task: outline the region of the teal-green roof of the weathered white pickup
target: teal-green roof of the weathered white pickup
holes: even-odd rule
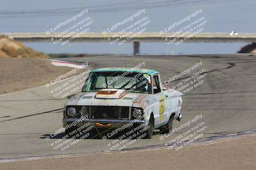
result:
[[[100,69],[93,69],[92,72],[104,72],[104,71],[114,71],[114,72],[118,72],[118,71],[133,71],[135,73],[147,73],[147,74],[156,74],[158,73],[158,71],[154,71],[152,69],[134,69],[134,68],[129,68],[129,67],[107,67],[107,68],[100,68]]]

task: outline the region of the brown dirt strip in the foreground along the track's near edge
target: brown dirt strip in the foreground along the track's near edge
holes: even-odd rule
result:
[[[0,169],[256,169],[256,135],[179,150],[154,149],[0,164]]]

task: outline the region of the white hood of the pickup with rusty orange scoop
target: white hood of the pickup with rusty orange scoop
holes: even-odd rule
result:
[[[116,90],[113,94],[112,89],[100,90],[99,92],[81,92],[72,97],[67,103],[70,106],[134,106],[137,107],[148,94],[127,93],[125,90]]]

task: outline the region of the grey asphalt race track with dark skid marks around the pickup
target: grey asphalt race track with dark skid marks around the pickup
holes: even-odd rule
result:
[[[155,69],[161,77],[177,73],[186,64],[202,60],[211,82],[204,88],[183,97],[182,122],[202,114],[208,129],[204,138],[256,129],[256,56],[253,55],[179,55],[138,57],[88,57],[67,59],[88,61],[92,68],[132,66],[134,60],[145,61],[147,68]],[[64,83],[61,81],[60,83]],[[62,126],[61,108],[67,99],[56,99],[54,87],[35,87],[0,96],[0,159],[19,159],[69,153],[110,152],[113,139],[83,139],[65,151],[53,150],[54,139],[45,136]],[[182,122],[175,121],[174,127]],[[182,132],[182,131],[181,131]],[[174,136],[179,133],[173,134]],[[127,148],[164,145],[161,134],[152,139],[141,139]]]

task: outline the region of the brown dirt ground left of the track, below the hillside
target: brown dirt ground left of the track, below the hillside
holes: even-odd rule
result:
[[[44,85],[71,69],[52,66],[47,59],[0,58],[0,94]]]

